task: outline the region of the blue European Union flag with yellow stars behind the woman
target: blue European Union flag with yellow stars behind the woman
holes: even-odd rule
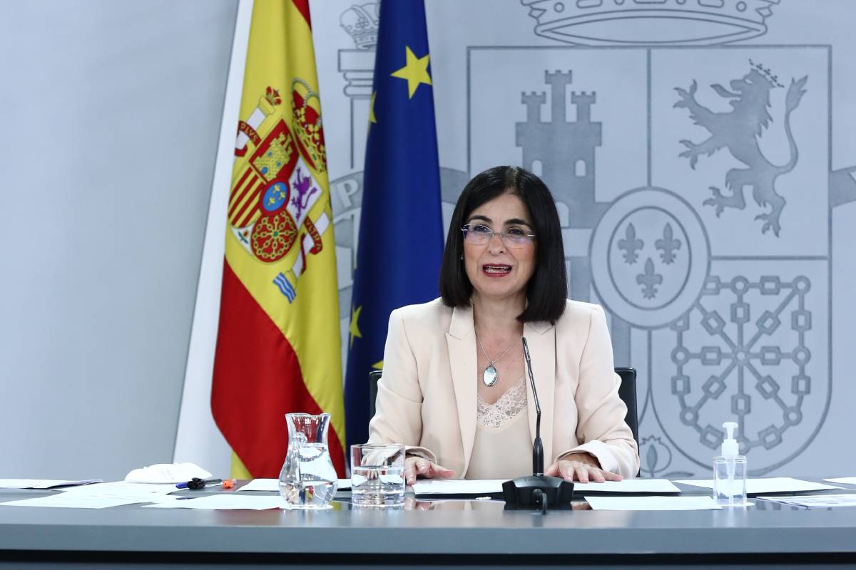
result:
[[[382,2],[379,26],[348,335],[348,444],[368,439],[368,375],[383,367],[389,313],[438,297],[443,254],[425,4]]]

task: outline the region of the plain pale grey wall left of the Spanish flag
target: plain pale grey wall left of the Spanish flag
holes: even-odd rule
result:
[[[172,461],[236,4],[0,6],[0,478]]]

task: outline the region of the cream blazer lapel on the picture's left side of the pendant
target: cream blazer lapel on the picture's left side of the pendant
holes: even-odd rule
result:
[[[473,325],[473,309],[454,309],[446,344],[449,347],[449,365],[452,384],[455,386],[455,401],[458,405],[458,425],[461,426],[461,444],[464,449],[464,471],[458,473],[463,479],[473,455],[476,438],[476,339]]]

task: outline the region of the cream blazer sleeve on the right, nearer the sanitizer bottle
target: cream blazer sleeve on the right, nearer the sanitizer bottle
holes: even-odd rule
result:
[[[618,396],[621,378],[615,373],[612,342],[603,309],[591,311],[588,338],[580,358],[580,379],[574,401],[577,406],[577,441],[582,445],[559,455],[585,451],[600,466],[622,477],[639,473],[639,448],[624,421],[627,406]]]

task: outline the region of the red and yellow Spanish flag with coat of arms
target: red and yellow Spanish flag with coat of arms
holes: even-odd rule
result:
[[[279,475],[283,414],[328,412],[342,476],[336,245],[308,0],[255,0],[240,118],[211,411],[241,478]]]

